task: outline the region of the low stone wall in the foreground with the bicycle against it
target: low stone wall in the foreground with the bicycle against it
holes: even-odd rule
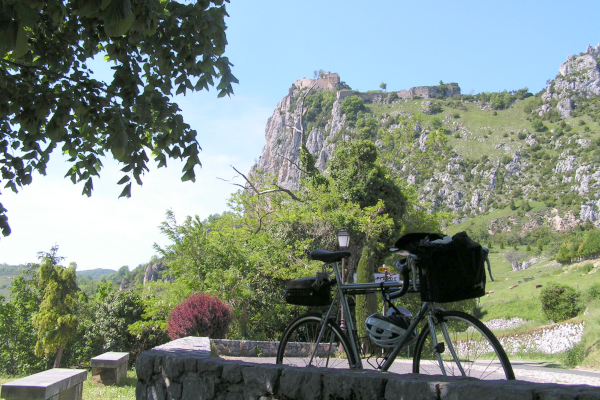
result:
[[[226,361],[211,358],[208,343],[206,338],[184,338],[142,353],[136,362],[136,399],[600,400],[600,390],[587,385],[483,382]]]

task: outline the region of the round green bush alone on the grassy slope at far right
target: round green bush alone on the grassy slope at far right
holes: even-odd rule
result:
[[[579,314],[582,309],[580,295],[571,286],[549,283],[540,294],[542,311],[554,322],[565,321]]]

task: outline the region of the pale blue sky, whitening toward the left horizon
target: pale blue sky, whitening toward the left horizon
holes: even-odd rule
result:
[[[246,172],[260,156],[264,128],[291,84],[314,70],[337,72],[353,89],[388,91],[457,82],[463,93],[529,87],[536,93],[569,54],[600,42],[600,2],[578,1],[244,1],[227,5],[226,55],[240,80],[235,96],[215,90],[178,96],[198,131],[202,169],[182,183],[181,164],[153,168],[132,198],[118,199],[118,165],[104,162],[91,198],[63,178],[54,154],[48,175],[19,194],[4,190],[13,233],[0,239],[0,263],[36,261],[58,244],[79,270],[131,269],[147,262],[166,210],[179,220],[227,210],[230,165]],[[100,68],[100,67],[99,67]],[[240,181],[241,183],[241,181]]]

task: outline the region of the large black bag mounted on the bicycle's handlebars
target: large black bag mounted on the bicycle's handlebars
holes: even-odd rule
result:
[[[408,234],[396,247],[418,257],[422,301],[449,303],[485,294],[485,253],[465,232],[452,241],[440,234]],[[436,243],[436,241],[438,241]]]

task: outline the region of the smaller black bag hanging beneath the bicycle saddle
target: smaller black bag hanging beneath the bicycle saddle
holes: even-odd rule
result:
[[[316,276],[289,281],[285,287],[285,302],[298,306],[328,306],[331,303],[331,283]]]

